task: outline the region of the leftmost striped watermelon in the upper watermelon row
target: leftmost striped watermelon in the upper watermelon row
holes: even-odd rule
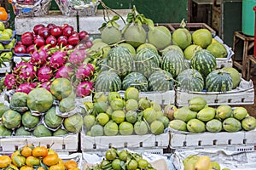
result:
[[[111,48],[107,56],[107,65],[117,71],[119,77],[125,77],[133,69],[132,54],[122,46]]]

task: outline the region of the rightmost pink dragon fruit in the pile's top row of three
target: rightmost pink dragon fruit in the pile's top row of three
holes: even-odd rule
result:
[[[86,57],[86,51],[82,49],[75,49],[68,58],[68,61],[73,65],[82,65]]]

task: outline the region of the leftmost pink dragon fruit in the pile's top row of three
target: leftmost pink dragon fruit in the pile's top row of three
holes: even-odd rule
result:
[[[44,65],[48,57],[46,48],[35,50],[31,55],[31,63],[32,65]]]

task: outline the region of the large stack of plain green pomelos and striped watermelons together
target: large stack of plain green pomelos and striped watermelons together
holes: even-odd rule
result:
[[[122,31],[107,26],[101,33],[90,48],[102,57],[95,82],[98,92],[129,87],[141,92],[166,92],[175,86],[189,91],[226,92],[241,81],[235,68],[217,69],[216,59],[228,53],[207,29],[189,32],[181,25],[171,32],[165,26],[130,23]]]

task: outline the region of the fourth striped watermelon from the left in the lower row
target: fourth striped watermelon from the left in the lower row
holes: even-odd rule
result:
[[[201,92],[204,88],[204,79],[199,71],[186,69],[177,75],[177,85],[183,89]]]

